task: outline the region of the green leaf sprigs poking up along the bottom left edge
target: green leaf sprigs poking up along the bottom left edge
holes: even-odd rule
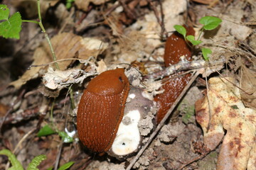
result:
[[[23,167],[21,166],[21,162],[19,162],[18,159],[16,159],[15,155],[13,153],[11,153],[11,151],[9,149],[0,150],[0,154],[6,155],[9,159],[9,161],[11,162],[12,166],[8,170],[23,170]],[[37,168],[37,166],[39,164],[41,164],[41,162],[45,159],[46,159],[46,155],[44,155],[44,154],[41,154],[41,155],[38,155],[38,156],[34,157],[31,161],[31,163],[28,164],[27,170],[39,170]],[[68,169],[74,163],[75,162],[68,162],[66,164],[63,164],[63,166],[60,166],[60,168],[58,170]],[[52,169],[52,168],[50,168],[50,169]]]

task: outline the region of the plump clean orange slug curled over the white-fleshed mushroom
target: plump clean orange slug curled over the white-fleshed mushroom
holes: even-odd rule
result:
[[[92,152],[107,152],[117,135],[129,93],[124,69],[113,69],[92,79],[78,106],[78,136]]]

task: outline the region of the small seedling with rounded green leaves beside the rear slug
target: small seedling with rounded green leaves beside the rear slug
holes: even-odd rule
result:
[[[205,16],[205,17],[201,18],[199,20],[199,23],[203,24],[203,27],[200,30],[197,40],[195,40],[195,37],[193,35],[186,35],[186,28],[184,28],[183,26],[175,25],[174,29],[178,33],[183,35],[183,38],[186,40],[186,42],[187,41],[191,42],[192,45],[199,45],[202,42],[199,39],[201,38],[201,34],[203,33],[203,31],[204,30],[213,30],[213,29],[217,28],[221,22],[222,22],[222,20],[220,18],[217,18],[214,16]],[[210,55],[212,53],[212,51],[209,48],[202,48],[201,50],[203,53],[204,60],[208,60],[209,59],[208,55]]]

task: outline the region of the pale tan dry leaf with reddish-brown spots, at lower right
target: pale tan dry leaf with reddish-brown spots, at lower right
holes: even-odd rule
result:
[[[196,120],[203,128],[204,144],[209,149],[215,149],[224,137],[218,170],[255,170],[256,112],[245,108],[240,90],[230,82],[237,84],[230,77],[209,80],[208,97],[196,102]]]

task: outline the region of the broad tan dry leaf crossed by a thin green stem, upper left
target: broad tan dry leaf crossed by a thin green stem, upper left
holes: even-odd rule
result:
[[[91,56],[97,56],[107,49],[108,44],[95,38],[82,38],[73,33],[60,33],[51,39],[53,49],[57,60],[64,60],[78,57],[81,60],[87,60]],[[50,48],[47,42],[43,43],[43,47],[38,47],[33,55],[32,65],[48,64],[53,61]],[[65,70],[73,62],[73,60],[65,60],[58,62],[60,70]],[[20,79],[11,82],[16,89],[20,88],[26,81],[36,79],[46,72],[47,67],[31,67]],[[43,72],[40,72],[42,71]],[[40,72],[40,73],[39,73]]]

